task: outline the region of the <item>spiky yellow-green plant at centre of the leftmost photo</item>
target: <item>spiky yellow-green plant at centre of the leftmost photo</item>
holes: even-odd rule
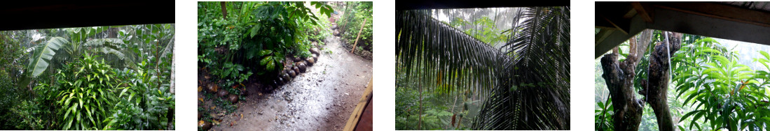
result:
[[[115,100],[112,90],[119,85],[112,68],[97,60],[98,56],[83,55],[72,68],[59,70],[58,82],[62,92],[57,96],[62,129],[99,129]]]

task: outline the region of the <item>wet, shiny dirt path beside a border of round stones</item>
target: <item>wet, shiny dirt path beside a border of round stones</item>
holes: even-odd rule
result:
[[[372,78],[372,61],[350,54],[335,36],[325,43],[316,64],[273,93],[247,85],[235,113],[212,113],[224,116],[211,130],[343,129]]]

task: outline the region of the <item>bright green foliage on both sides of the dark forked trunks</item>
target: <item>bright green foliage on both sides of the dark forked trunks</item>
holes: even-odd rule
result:
[[[654,31],[651,42],[665,41],[661,31]],[[675,128],[680,130],[762,130],[768,117],[768,60],[765,51],[738,54],[735,47],[719,43],[715,38],[685,34],[681,50],[671,57],[671,84],[666,98]],[[628,44],[618,47],[623,57],[628,57]],[[646,77],[649,54],[644,57],[635,72],[634,81]],[[742,55],[760,54],[752,60],[741,60]],[[757,55],[753,55],[757,56]],[[622,61],[623,59],[621,59]],[[764,66],[750,67],[738,61]],[[741,62],[742,63],[742,62]],[[597,67],[601,67],[597,64]],[[601,70],[597,70],[601,75]],[[638,82],[637,82],[638,83]],[[641,84],[634,85],[641,90]],[[597,77],[596,127],[598,130],[614,129],[611,115],[613,98],[608,98],[604,79]],[[641,93],[641,91],[640,91]],[[658,130],[653,111],[644,107],[640,129]]]

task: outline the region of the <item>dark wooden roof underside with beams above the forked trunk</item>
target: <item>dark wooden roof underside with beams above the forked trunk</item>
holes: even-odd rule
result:
[[[644,29],[770,45],[768,2],[596,2],[595,57]]]

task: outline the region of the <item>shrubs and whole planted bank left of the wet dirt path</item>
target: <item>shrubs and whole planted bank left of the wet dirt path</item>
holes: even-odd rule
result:
[[[198,2],[199,103],[218,107],[199,104],[199,129],[221,121],[210,114],[233,113],[246,85],[271,91],[303,73],[296,60],[317,60],[333,13],[326,2]]]

